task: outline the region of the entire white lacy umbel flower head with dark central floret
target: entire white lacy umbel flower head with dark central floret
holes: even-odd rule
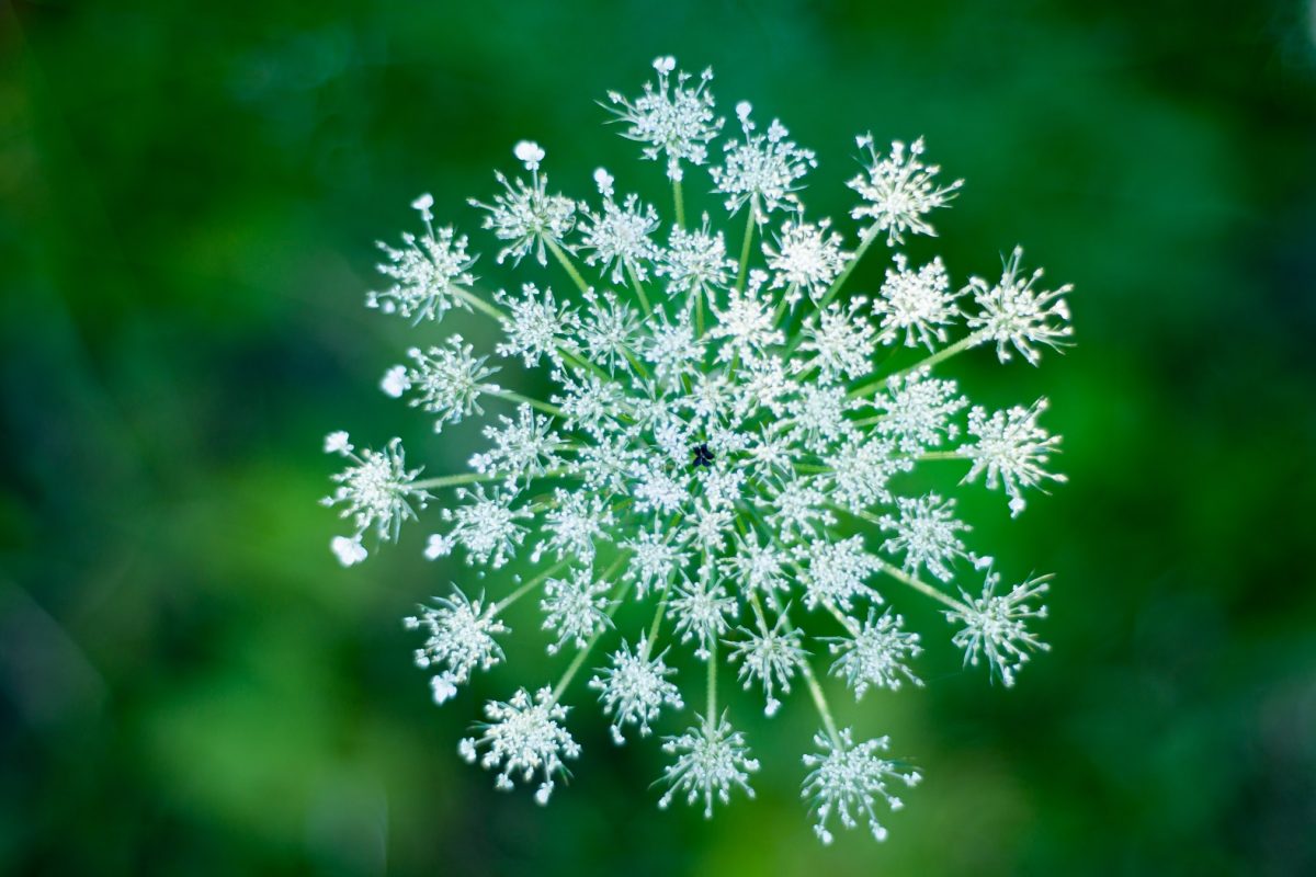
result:
[[[1050,471],[1059,437],[1038,423],[1045,400],[988,412],[944,367],[983,346],[1036,366],[1044,348],[1069,343],[1070,288],[1044,289],[1017,249],[999,281],[959,288],[940,258],[917,264],[892,251],[884,280],[878,272],[875,288],[853,293],[874,245],[934,234],[929,214],[961,188],[938,181],[923,139],[882,153],[858,138],[859,226],[848,241],[830,220],[805,218],[800,192],[816,158],[782,122],[759,129],[741,103],[738,134],[719,145],[712,74],[678,72],[671,58],[654,68],[640,97],[609,93],[605,105],[644,158],[666,163],[674,221],[619,193],[603,168],[592,202],[558,193],[545,150],[522,141],[513,155],[524,174],[496,174],[499,191],[470,204],[495,263],[532,256],[538,277],[478,288],[467,238],[434,227],[429,196],[412,205],[424,235],[382,245],[392,287],[368,306],[430,326],[459,309],[501,334],[488,352],[455,333],[412,348],[382,389],[436,431],[494,410],[468,469],[425,480],[397,439],[358,454],[346,433],[332,434],[325,451],[347,465],[325,502],[351,525],[332,548],[358,563],[365,539],[395,540],[442,496],[425,555],[462,556],[480,577],[505,568],[484,582],[491,600],[454,589],[405,619],[424,635],[415,657],[437,703],[505,660],[509,606],[538,605],[549,655],[569,653],[561,677],[491,701],[461,743],[499,788],[537,778],[536,798],[547,801],[580,753],[563,697],[592,661],[587,688],[619,744],[628,730],[687,728],[663,738],[661,806],[680,797],[711,815],[736,790],[753,795],[759,760],[717,697],[719,676],[734,669],[766,715],[804,699],[800,689],[819,713],[803,777],[817,836],[865,822],[880,840],[875,807],[899,809],[892,789],[919,774],[886,757],[886,738],[855,742],[837,726],[820,671],[857,699],[923,685],[913,665],[926,640],[898,611],[909,598],[938,601],[966,665],[986,661],[1005,685],[1046,648],[1030,627],[1045,617],[1048,577],[998,594],[1000,573],[971,547],[955,498],[919,489],[916,473],[959,465],[962,483],[1001,490],[1015,515],[1026,493],[1063,481]],[[687,224],[683,183],[711,153],[721,155],[708,167],[711,197]],[[720,226],[741,210],[741,230]],[[522,369],[538,369],[547,398],[512,389]],[[979,597],[959,586],[983,575]],[[645,617],[642,628],[621,621],[633,617],[622,606]],[[688,673],[699,663],[704,682]],[[707,701],[692,724],[672,726],[694,699],[683,697],[687,675]]]

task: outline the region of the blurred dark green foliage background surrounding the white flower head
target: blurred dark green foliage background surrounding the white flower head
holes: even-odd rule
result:
[[[0,0],[0,872],[1316,873],[1313,33],[1299,0]],[[326,431],[436,472],[478,440],[376,392],[415,335],[361,308],[371,242],[421,191],[472,227],[522,137],[663,197],[594,100],[667,53],[819,151],[812,212],[854,133],[923,133],[967,185],[912,252],[1076,285],[1067,355],[955,369],[1053,398],[1071,483],[966,504],[1057,573],[1054,648],[1005,690],[908,609],[929,686],[846,711],[926,774],[882,845],[813,840],[804,701],[742,713],[759,794],[708,823],[583,694],[570,788],[494,792],[399,625],[467,573],[421,527],[326,551]],[[537,681],[519,648],[476,696]]]

